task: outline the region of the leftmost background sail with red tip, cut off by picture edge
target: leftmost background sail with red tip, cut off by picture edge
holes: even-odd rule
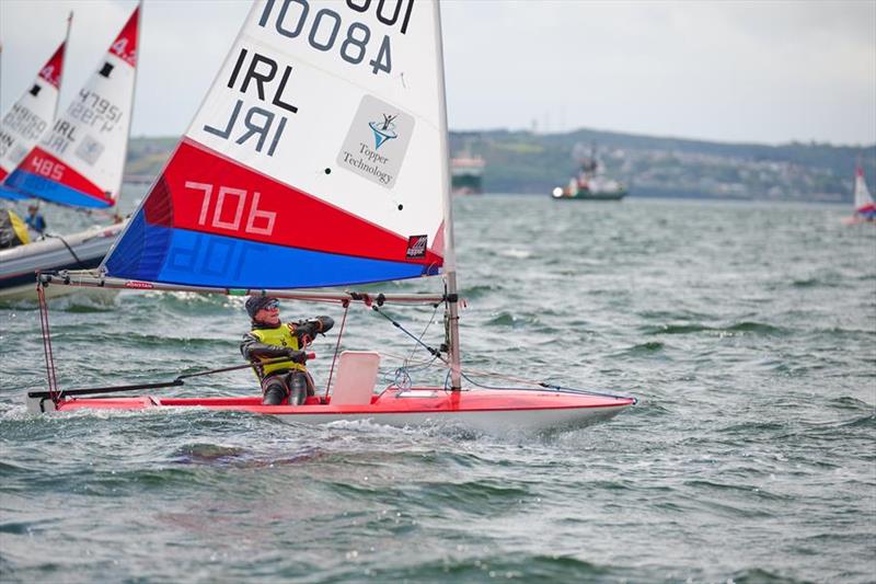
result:
[[[70,21],[67,21],[69,36]],[[51,125],[58,110],[64,72],[65,39],[39,69],[34,82],[0,121],[0,184],[18,167]],[[14,191],[0,188],[0,196],[23,198]]]

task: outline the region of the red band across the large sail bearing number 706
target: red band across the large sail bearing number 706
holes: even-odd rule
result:
[[[171,213],[160,214],[161,219],[148,213],[168,204]],[[355,257],[443,263],[433,250],[410,253],[411,236],[393,233],[188,139],[180,144],[145,208],[152,225]]]

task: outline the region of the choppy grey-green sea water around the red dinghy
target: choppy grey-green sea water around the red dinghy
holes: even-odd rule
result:
[[[45,386],[38,313],[3,306],[0,579],[876,580],[876,229],[841,225],[841,207],[753,203],[483,196],[454,213],[464,363],[637,406],[504,436],[36,416],[23,393]],[[341,317],[284,304],[316,313]],[[433,317],[391,313],[415,334]],[[57,299],[50,319],[65,387],[233,365],[246,329],[240,299],[185,294]],[[315,345],[318,380],[335,341]],[[361,309],[343,346],[414,348]],[[238,371],[175,393],[249,391]]]

